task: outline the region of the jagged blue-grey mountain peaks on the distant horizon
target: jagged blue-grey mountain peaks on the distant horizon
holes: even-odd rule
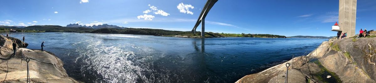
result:
[[[86,25],[79,25],[79,24],[69,24],[67,27],[85,27],[85,28],[93,28],[93,29],[98,29],[98,28],[118,28],[118,29],[124,29],[126,27],[119,27],[116,25],[108,25],[108,24],[103,24],[103,25],[93,25],[93,26],[86,26]]]

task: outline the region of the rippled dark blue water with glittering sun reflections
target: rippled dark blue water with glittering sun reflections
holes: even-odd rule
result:
[[[327,39],[189,39],[126,34],[12,33],[27,48],[53,52],[82,82],[236,82],[292,58]],[[307,53],[306,53],[307,52]],[[306,53],[306,54],[305,54]]]

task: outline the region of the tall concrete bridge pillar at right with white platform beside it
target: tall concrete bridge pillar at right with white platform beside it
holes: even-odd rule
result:
[[[347,37],[355,36],[356,0],[339,0],[339,3],[338,26],[332,26],[332,31],[347,33]]]

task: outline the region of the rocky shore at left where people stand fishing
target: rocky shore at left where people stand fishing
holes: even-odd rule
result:
[[[16,57],[12,43],[16,40]],[[27,43],[13,37],[0,36],[0,81],[10,83],[26,82],[29,66],[30,82],[36,83],[79,83],[69,77],[64,63],[55,55],[40,50],[26,49]],[[27,63],[24,58],[29,58]],[[28,64],[28,65],[27,65]]]

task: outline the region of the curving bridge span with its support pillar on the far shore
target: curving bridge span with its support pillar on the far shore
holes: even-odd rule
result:
[[[201,37],[205,37],[205,17],[208,15],[209,10],[214,6],[215,2],[218,0],[208,0],[206,1],[206,4],[204,8],[201,11],[201,14],[199,16],[199,19],[197,19],[196,25],[194,25],[192,29],[192,33],[196,34],[196,28],[199,27],[200,22],[202,22],[202,27],[201,27]]]

